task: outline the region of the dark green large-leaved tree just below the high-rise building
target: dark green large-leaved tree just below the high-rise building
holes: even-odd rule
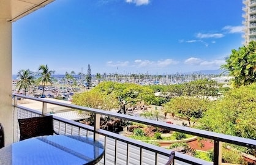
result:
[[[232,50],[232,54],[226,58],[227,64],[220,68],[229,71],[233,76],[235,86],[248,85],[256,81],[256,42]]]

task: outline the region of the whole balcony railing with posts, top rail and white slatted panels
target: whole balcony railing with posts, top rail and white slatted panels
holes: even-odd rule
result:
[[[17,98],[39,101],[42,103],[42,109],[38,111],[38,109],[36,110],[18,105]],[[59,101],[51,101],[16,94],[13,95],[13,111],[15,114],[14,121],[17,121],[17,119],[20,118],[45,115],[47,114],[47,105],[62,106],[74,110],[89,112],[90,114],[94,115],[94,127],[75,122],[73,120],[62,119],[61,117],[53,116],[55,127],[54,129],[59,134],[93,136],[95,139],[102,141],[105,145],[105,156],[99,162],[99,164],[165,164],[168,160],[168,155],[170,154],[170,150],[168,149],[164,149],[156,145],[147,144],[145,142],[127,138],[120,134],[111,133],[110,131],[100,129],[100,116],[115,117],[118,119],[142,123],[145,125],[152,125],[154,127],[192,134],[194,136],[211,139],[214,141],[214,162],[200,160],[198,158],[184,155],[182,153],[175,153],[175,164],[221,164],[220,150],[222,142],[256,149],[256,141],[252,139],[239,138],[236,136],[229,136],[205,130],[198,130],[195,128],[172,125],[155,120],[143,119],[135,116],[118,114],[116,112],[104,111],[101,109],[86,108],[83,106],[60,103]],[[13,128],[15,128],[13,130],[13,134],[15,134],[13,139],[14,141],[17,141],[19,136],[18,124],[17,122],[14,122],[13,125]]]

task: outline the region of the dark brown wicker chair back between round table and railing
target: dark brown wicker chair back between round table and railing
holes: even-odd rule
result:
[[[36,136],[53,135],[53,116],[18,119],[20,141]]]

